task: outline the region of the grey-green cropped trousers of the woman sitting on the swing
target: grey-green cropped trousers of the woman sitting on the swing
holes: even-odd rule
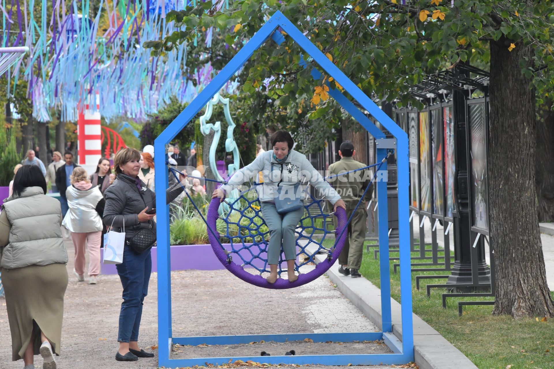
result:
[[[278,264],[281,254],[281,241],[286,260],[296,259],[296,235],[294,230],[304,214],[304,206],[300,209],[279,214],[275,204],[261,203],[261,215],[269,228],[268,264]]]

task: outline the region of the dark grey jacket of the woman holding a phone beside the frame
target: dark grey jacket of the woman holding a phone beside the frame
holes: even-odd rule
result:
[[[137,187],[137,181],[140,185],[140,191]],[[166,202],[169,204],[183,192],[181,184],[176,184],[171,189],[166,190]],[[106,205],[104,207],[104,216],[102,220],[106,227],[119,227],[121,232],[125,221],[125,237],[131,238],[142,228],[152,228],[156,231],[156,222],[139,222],[139,213],[146,206],[148,209],[156,208],[156,194],[150,190],[146,184],[138,177],[132,178],[126,174],[118,174],[111,186],[104,194]],[[165,206],[163,207],[165,209]]]

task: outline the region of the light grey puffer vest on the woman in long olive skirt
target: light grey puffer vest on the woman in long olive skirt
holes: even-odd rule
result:
[[[68,262],[61,237],[61,206],[40,187],[28,187],[2,205],[12,225],[9,243],[2,247],[2,267],[23,268]]]

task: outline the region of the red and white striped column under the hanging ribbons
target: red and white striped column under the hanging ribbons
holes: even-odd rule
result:
[[[102,129],[100,127],[100,96],[96,96],[96,110],[86,103],[78,108],[77,121],[79,164],[89,173],[96,170],[98,160],[102,157]],[[87,99],[90,102],[90,97]]]

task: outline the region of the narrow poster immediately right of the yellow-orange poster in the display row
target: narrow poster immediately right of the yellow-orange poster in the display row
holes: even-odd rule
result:
[[[431,151],[433,153],[433,214],[444,216],[443,121],[440,109],[431,111]]]

